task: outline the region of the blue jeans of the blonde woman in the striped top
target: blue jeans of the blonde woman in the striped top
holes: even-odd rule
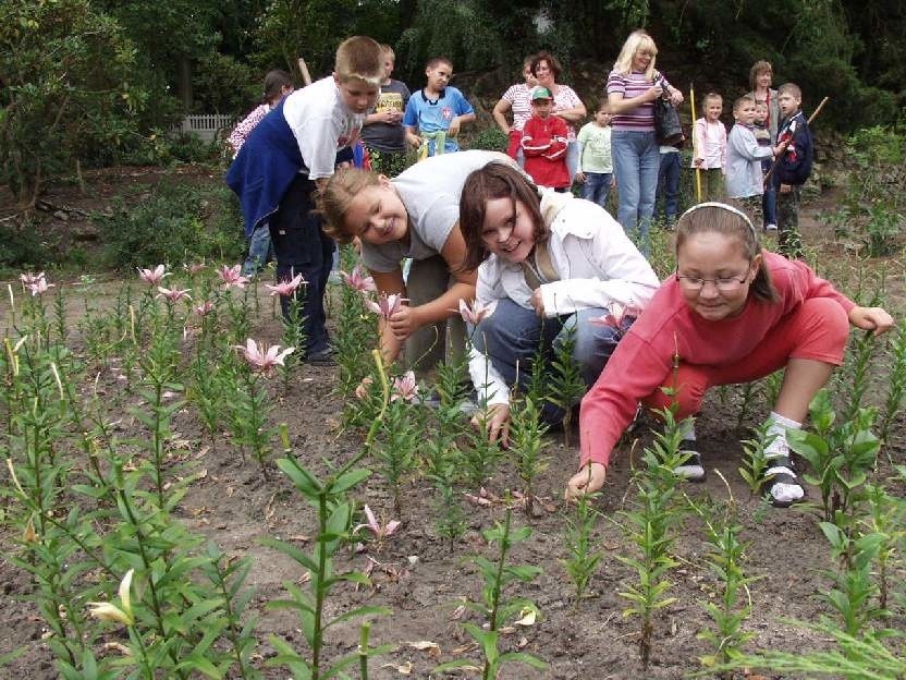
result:
[[[620,207],[616,219],[623,230],[635,235],[638,230],[639,250],[647,257],[651,250],[648,231],[654,214],[658,171],[661,154],[653,132],[614,130],[611,133],[611,154]]]

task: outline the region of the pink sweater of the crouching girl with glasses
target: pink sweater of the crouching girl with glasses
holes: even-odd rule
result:
[[[847,314],[855,306],[805,263],[763,254],[781,301],[768,304],[749,298],[743,313],[733,318],[708,321],[683,300],[676,277],[661,284],[581,401],[580,465],[608,464],[636,405],[668,380],[674,352],[683,363],[726,366],[748,356],[805,300],[830,298]]]

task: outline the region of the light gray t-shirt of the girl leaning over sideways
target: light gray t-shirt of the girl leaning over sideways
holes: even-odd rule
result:
[[[362,262],[372,271],[394,271],[404,257],[428,259],[440,254],[460,219],[460,195],[466,178],[492,160],[512,160],[497,151],[457,151],[415,163],[391,183],[409,216],[408,247],[401,241],[362,243]]]

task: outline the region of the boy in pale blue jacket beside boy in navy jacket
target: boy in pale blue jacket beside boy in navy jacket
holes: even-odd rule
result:
[[[733,102],[733,119],[736,123],[726,138],[726,195],[751,219],[761,207],[764,191],[761,160],[771,158],[773,151],[770,146],[759,146],[755,138],[752,97],[746,95]]]

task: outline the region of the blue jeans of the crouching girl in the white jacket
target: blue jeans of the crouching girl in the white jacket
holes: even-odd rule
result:
[[[541,319],[534,309],[526,309],[512,300],[499,300],[493,314],[486,316],[475,328],[472,340],[482,354],[487,354],[494,369],[509,386],[518,385],[522,391],[528,388],[531,362],[539,344],[544,365],[550,367],[554,347],[564,329],[574,327],[575,347],[573,359],[579,365],[583,380],[591,387],[601,375],[610,355],[616,349],[620,333],[610,326],[591,324],[589,319],[607,314],[607,309],[579,309],[575,314]],[[628,325],[626,325],[628,328]],[[553,404],[542,406],[542,416],[555,423],[563,411]]]

